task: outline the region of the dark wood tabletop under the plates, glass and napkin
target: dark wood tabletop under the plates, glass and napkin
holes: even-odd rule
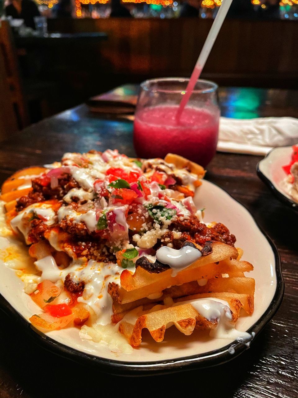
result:
[[[118,94],[135,94],[125,86]],[[298,92],[222,88],[229,117],[298,117]],[[118,148],[134,156],[132,122],[91,113],[79,105],[0,143],[0,182],[15,170],[59,160],[64,152]],[[256,175],[261,156],[217,153],[206,178],[248,208],[281,255],[285,293],[273,319],[250,349],[229,363],[199,371],[151,377],[117,377],[58,357],[17,330],[0,312],[0,398],[81,396],[283,397],[298,396],[298,213],[284,206]],[[264,291],[264,295],[266,292]],[[154,395],[153,395],[154,394]]]

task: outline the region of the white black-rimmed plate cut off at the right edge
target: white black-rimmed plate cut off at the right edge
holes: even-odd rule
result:
[[[273,191],[275,196],[292,207],[293,210],[298,211],[298,203],[294,201],[284,189],[284,178],[286,177],[283,171],[283,166],[289,164],[292,155],[292,146],[281,146],[273,148],[264,159],[257,164],[257,175],[265,182]]]

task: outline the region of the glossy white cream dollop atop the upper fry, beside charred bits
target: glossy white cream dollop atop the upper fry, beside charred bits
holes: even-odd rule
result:
[[[179,250],[162,246],[156,252],[157,260],[163,264],[170,265],[172,268],[172,277],[175,277],[179,271],[187,268],[201,256],[201,252],[192,246],[183,246]]]

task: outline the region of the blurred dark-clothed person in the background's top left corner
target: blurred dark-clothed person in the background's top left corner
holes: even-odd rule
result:
[[[13,19],[24,20],[25,25],[32,29],[35,29],[34,17],[41,15],[33,0],[10,0],[5,13]]]

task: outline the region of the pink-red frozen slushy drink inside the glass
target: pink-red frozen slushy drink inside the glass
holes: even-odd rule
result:
[[[216,152],[219,109],[187,107],[177,120],[178,105],[145,107],[135,114],[134,147],[140,158],[176,153],[206,166]]]

